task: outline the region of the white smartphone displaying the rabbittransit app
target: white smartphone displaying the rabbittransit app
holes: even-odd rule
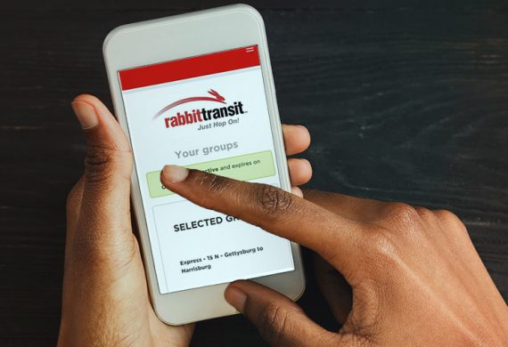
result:
[[[299,246],[196,206],[160,182],[166,164],[290,190],[260,14],[236,4],[115,28],[104,60],[135,159],[132,201],[152,304],[180,325],[237,313],[224,291],[250,278],[296,300]]]

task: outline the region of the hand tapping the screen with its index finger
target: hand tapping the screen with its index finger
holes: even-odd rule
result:
[[[320,254],[339,271],[324,295],[337,333],[251,281],[225,299],[282,346],[506,346],[508,310],[460,220],[447,211],[310,192],[165,166],[162,182],[194,203],[230,214]]]

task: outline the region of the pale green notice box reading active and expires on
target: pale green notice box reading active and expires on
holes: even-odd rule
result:
[[[190,169],[214,173],[239,181],[250,181],[274,176],[274,157],[272,151],[257,152],[237,157],[211,160],[204,163],[186,165]],[[146,173],[151,198],[160,198],[173,194],[160,182],[160,171]]]

